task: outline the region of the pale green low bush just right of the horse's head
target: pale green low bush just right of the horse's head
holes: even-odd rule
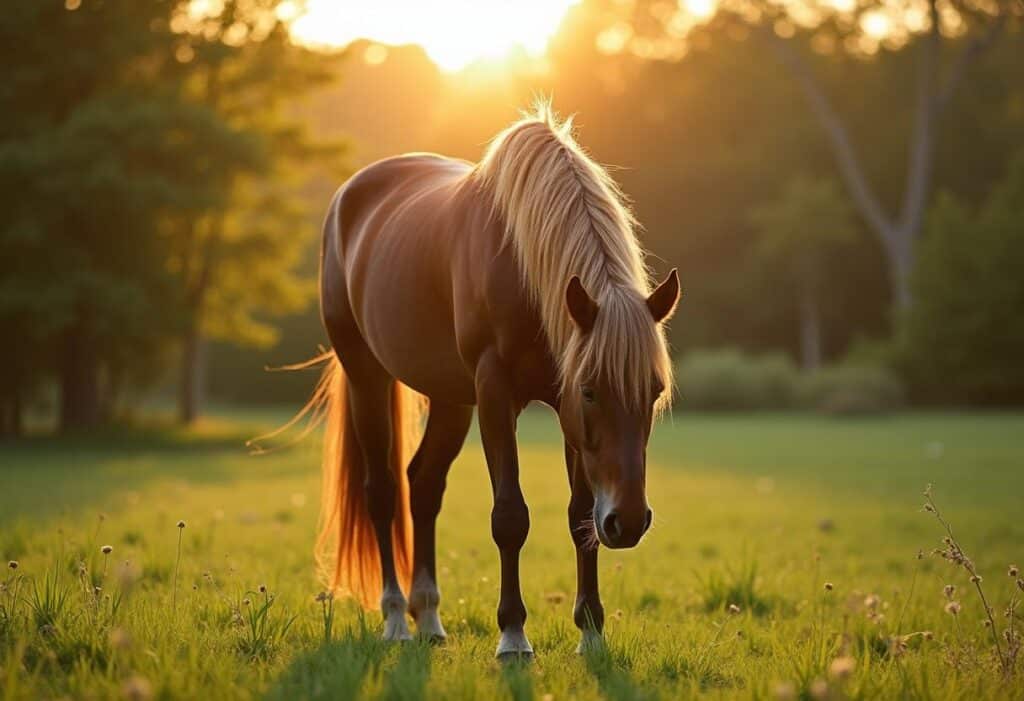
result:
[[[794,404],[798,374],[781,353],[754,356],[735,349],[693,351],[677,366],[688,409],[778,409]]]

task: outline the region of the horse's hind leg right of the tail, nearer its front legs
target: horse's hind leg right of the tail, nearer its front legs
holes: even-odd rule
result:
[[[413,510],[413,590],[409,610],[421,636],[443,641],[437,615],[440,592],[435,568],[435,530],[445,479],[473,421],[473,408],[431,400],[423,441],[409,466]]]

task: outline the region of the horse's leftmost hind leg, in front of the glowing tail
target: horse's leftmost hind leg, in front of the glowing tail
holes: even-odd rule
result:
[[[348,406],[352,412],[355,435],[367,466],[367,507],[377,533],[380,552],[384,615],[384,640],[410,640],[406,622],[406,596],[401,593],[394,569],[391,525],[394,520],[398,485],[390,468],[391,400],[394,380],[383,374],[361,376],[358,382],[349,376]]]

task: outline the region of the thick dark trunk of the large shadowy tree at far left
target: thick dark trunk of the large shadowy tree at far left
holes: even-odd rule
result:
[[[60,362],[60,431],[99,425],[99,356],[92,334],[83,323],[63,337]]]

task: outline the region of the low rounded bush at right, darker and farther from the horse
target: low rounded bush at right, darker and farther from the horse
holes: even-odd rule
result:
[[[903,385],[882,366],[841,364],[800,381],[800,405],[834,414],[880,413],[903,403]]]

